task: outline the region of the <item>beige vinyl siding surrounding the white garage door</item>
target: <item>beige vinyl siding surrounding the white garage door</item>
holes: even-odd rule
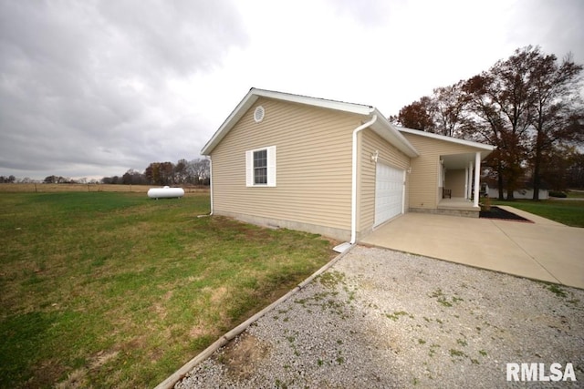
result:
[[[378,160],[394,168],[407,170],[410,167],[410,158],[386,140],[373,132],[370,128],[364,129],[359,136],[360,149],[360,186],[357,203],[359,204],[357,225],[360,235],[367,234],[375,221],[375,167],[371,161],[371,154],[379,151]],[[409,177],[406,174],[405,210],[408,210]]]

